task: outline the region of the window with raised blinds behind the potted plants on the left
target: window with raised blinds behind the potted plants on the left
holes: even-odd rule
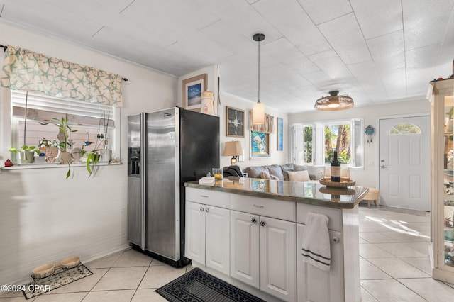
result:
[[[27,104],[27,120],[24,116]],[[50,97],[35,91],[11,91],[11,146],[38,146],[42,138],[57,140],[58,128],[55,118],[60,120],[68,114],[72,147],[82,147],[87,152],[102,149],[101,136],[106,135],[108,147],[113,148],[115,118],[114,107],[103,104],[92,104],[74,99]],[[106,125],[104,125],[106,123]],[[26,138],[24,141],[24,128]]]

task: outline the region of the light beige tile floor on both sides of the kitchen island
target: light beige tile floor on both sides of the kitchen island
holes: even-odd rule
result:
[[[454,285],[431,278],[430,218],[360,206],[362,301],[451,301]],[[155,289],[192,267],[175,269],[134,250],[87,263],[92,276],[28,301],[165,301]],[[22,293],[0,302],[26,301]],[[216,302],[216,301],[214,301]]]

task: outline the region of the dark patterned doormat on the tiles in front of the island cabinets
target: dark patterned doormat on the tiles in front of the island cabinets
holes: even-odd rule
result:
[[[171,302],[265,302],[225,281],[206,274],[199,268],[192,269],[183,276],[160,287],[156,292]]]

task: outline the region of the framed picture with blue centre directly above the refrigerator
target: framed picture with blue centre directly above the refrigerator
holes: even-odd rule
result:
[[[208,74],[200,74],[196,77],[184,79],[182,82],[183,108],[192,111],[200,111],[201,93],[206,90]]]

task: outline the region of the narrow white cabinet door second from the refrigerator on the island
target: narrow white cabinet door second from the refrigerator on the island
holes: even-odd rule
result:
[[[230,271],[230,210],[206,206],[206,266]]]

